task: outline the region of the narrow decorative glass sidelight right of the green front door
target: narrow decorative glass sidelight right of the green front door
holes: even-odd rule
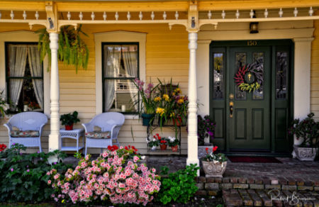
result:
[[[288,52],[276,52],[276,99],[286,99]]]

